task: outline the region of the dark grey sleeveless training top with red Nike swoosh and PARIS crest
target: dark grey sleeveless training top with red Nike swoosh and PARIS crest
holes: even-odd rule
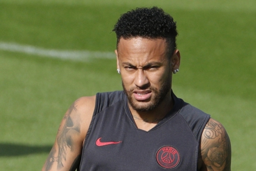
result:
[[[210,115],[172,96],[172,111],[147,132],[136,127],[123,91],[97,93],[80,171],[196,171]]]

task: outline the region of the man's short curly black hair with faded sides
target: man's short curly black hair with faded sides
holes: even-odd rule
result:
[[[121,38],[142,37],[148,39],[166,39],[169,52],[176,48],[176,22],[172,16],[158,7],[136,8],[121,15],[113,29],[117,36],[117,45]]]

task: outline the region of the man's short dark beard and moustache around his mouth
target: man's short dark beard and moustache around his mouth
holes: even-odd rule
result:
[[[136,104],[136,100],[134,100],[132,96],[133,96],[133,90],[136,90],[136,89],[141,90],[141,89],[134,87],[127,90],[122,80],[122,86],[128,98],[128,102],[132,106],[132,108],[137,112],[149,112],[154,110],[169,93],[170,85],[171,85],[171,77],[169,75],[168,78],[162,83],[159,89],[153,86],[150,86],[149,88],[147,88],[148,90],[151,90],[153,96],[151,96],[149,102],[140,102],[142,104],[139,105],[139,104]]]

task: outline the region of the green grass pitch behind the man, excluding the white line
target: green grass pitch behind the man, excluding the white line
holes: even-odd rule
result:
[[[255,171],[255,0],[0,0],[0,44],[113,52],[121,13],[155,5],[177,21],[174,92],[225,126],[232,171]],[[69,105],[121,89],[114,55],[62,60],[0,46],[0,170],[41,170]]]

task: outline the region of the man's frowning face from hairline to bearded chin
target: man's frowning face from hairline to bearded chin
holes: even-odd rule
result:
[[[172,84],[172,59],[167,57],[164,39],[141,37],[120,39],[117,68],[129,105],[138,112],[155,109],[168,94]]]

